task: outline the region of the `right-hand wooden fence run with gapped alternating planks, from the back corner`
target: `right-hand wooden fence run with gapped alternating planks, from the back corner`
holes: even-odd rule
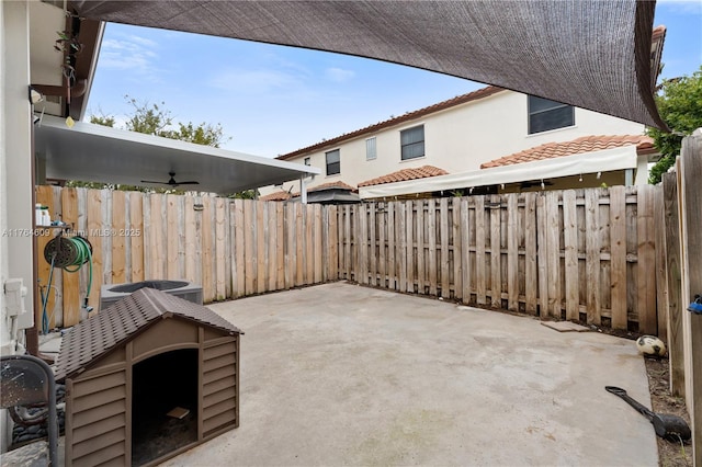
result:
[[[339,207],[340,278],[665,335],[654,186]]]

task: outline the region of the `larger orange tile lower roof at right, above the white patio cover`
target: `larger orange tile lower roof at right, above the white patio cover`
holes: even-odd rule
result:
[[[632,145],[636,145],[636,149],[638,151],[648,151],[654,149],[654,140],[644,135],[582,136],[571,141],[546,143],[545,145],[514,152],[513,155],[485,162],[480,164],[480,169],[553,159],[563,156],[573,156]]]

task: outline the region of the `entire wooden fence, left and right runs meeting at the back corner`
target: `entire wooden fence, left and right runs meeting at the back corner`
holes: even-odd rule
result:
[[[639,186],[344,206],[38,186],[93,247],[100,286],[184,278],[206,303],[326,281],[665,335],[654,196]],[[50,237],[38,236],[39,257]],[[49,264],[39,259],[39,282]],[[80,318],[87,267],[56,271],[50,326]],[[56,299],[58,298],[58,299]]]

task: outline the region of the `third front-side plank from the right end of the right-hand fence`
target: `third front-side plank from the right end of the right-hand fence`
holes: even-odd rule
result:
[[[600,195],[585,191],[585,282],[587,287],[587,322],[600,326]]]

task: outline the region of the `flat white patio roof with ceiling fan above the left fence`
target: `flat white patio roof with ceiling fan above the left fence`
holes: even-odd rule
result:
[[[196,180],[180,190],[236,193],[320,173],[319,169],[210,146],[45,115],[35,151],[47,179],[168,187],[141,180]],[[97,176],[95,174],[100,174]],[[100,179],[100,180],[97,180]]]

